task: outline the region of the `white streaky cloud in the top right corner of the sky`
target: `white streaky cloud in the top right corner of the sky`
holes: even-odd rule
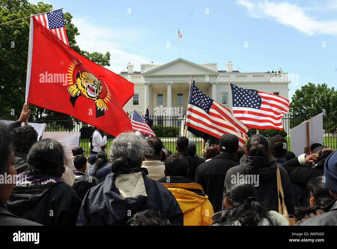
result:
[[[337,20],[319,21],[314,17],[306,15],[304,7],[287,2],[274,3],[269,1],[251,3],[237,1],[238,4],[247,7],[251,17],[272,18],[273,20],[289,25],[307,35],[337,34]]]

